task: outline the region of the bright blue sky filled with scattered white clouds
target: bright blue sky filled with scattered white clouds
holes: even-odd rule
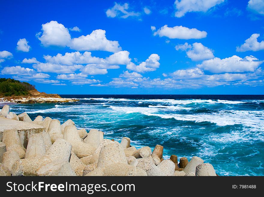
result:
[[[264,1],[2,1],[0,74],[58,94],[263,94]]]

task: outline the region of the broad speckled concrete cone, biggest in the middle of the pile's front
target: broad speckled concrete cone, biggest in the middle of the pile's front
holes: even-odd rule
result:
[[[123,148],[118,142],[102,147],[98,159],[98,167],[108,166],[112,163],[128,164]]]

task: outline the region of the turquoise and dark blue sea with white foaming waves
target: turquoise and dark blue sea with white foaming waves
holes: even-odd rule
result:
[[[61,95],[72,103],[11,105],[27,112],[68,119],[77,128],[98,129],[104,138],[131,139],[136,148],[164,146],[170,155],[201,157],[220,176],[264,175],[264,95]]]

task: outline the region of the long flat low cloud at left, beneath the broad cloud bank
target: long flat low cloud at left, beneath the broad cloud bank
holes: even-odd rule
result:
[[[82,65],[60,65],[60,64],[52,64],[52,63],[40,63],[33,64],[32,66],[38,72],[46,72],[46,73],[73,73],[75,70],[82,68]]]

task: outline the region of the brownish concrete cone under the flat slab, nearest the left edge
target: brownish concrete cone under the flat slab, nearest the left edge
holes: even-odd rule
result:
[[[26,149],[21,146],[19,135],[16,130],[5,130],[2,140],[7,151],[16,151],[20,159],[25,157]]]

